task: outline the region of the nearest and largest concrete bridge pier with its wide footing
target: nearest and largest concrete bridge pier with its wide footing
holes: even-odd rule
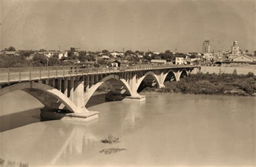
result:
[[[50,81],[50,83],[53,83]],[[61,84],[62,79],[58,79],[57,89],[61,88],[60,91],[64,91],[66,97],[77,107],[76,111],[70,113],[70,111],[65,108],[65,105],[59,103],[59,101],[54,98],[46,98],[50,105],[47,105],[41,110],[41,117],[43,119],[61,119],[61,120],[73,120],[73,121],[90,121],[98,118],[97,111],[89,111],[85,108],[84,104],[84,78],[71,77],[69,80],[65,78],[63,84]],[[63,85],[63,86],[62,86]]]

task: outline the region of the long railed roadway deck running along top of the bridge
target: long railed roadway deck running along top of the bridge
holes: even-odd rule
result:
[[[65,78],[72,76],[99,75],[99,74],[117,74],[120,72],[143,71],[155,69],[180,69],[180,68],[197,68],[199,66],[189,65],[142,65],[129,66],[125,68],[109,67],[109,68],[91,68],[91,69],[61,69],[61,70],[38,70],[31,68],[29,71],[13,71],[0,72],[0,84],[15,83],[23,81],[36,81],[50,78]]]

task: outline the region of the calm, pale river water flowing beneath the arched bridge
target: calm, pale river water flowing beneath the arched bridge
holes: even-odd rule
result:
[[[87,106],[90,122],[39,121],[39,101],[0,97],[0,158],[29,165],[254,166],[255,97],[146,93],[146,101]],[[12,114],[8,114],[12,113]],[[112,134],[119,143],[100,140]],[[125,148],[118,153],[99,153]]]

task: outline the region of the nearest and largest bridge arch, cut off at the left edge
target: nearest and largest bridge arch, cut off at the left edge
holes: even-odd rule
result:
[[[24,82],[24,83],[17,83],[17,84],[14,84],[14,85],[6,86],[5,88],[0,90],[0,96],[5,95],[6,93],[9,93],[9,92],[16,91],[16,90],[23,90],[23,91],[26,92],[26,90],[28,90],[28,89],[35,89],[35,90],[40,90],[40,91],[43,91],[45,93],[48,93],[49,95],[57,98],[60,102],[62,102],[65,105],[65,107],[68,108],[68,110],[70,112],[75,112],[75,113],[82,112],[82,110],[79,107],[77,107],[62,92],[53,88],[52,86],[42,84],[42,83]],[[35,98],[38,99],[37,97],[35,97]]]

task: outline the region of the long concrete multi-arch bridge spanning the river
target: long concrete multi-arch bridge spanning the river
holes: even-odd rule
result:
[[[165,81],[179,81],[191,72],[198,72],[198,66],[133,66],[126,69],[56,69],[26,70],[0,73],[0,96],[22,90],[29,93],[47,110],[68,111],[58,113],[63,119],[91,120],[98,112],[88,111],[85,105],[100,85],[105,83],[114,94],[126,94],[125,100],[145,100],[138,93],[140,86],[156,85],[164,88]],[[46,111],[46,110],[45,110]],[[53,112],[44,117],[53,117]],[[58,117],[59,118],[59,117]]]

